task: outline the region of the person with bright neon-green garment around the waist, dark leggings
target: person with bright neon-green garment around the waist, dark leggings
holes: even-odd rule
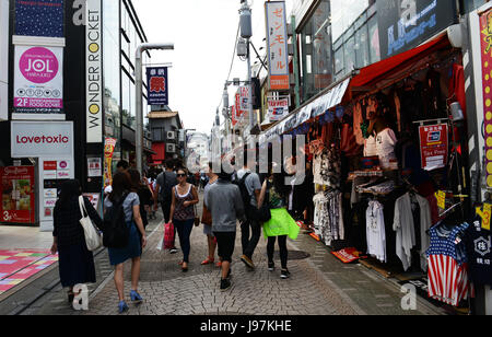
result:
[[[286,197],[290,186],[286,185],[285,177],[285,174],[273,174],[272,168],[270,168],[269,177],[263,182],[258,202],[258,209],[268,204],[271,213],[271,219],[263,222],[263,234],[268,240],[268,270],[273,271],[276,269],[273,252],[276,241],[278,241],[282,267],[280,277],[282,279],[288,279],[291,276],[288,268],[289,251],[286,240],[288,237],[292,240],[297,239],[300,232],[300,228],[286,210]]]

